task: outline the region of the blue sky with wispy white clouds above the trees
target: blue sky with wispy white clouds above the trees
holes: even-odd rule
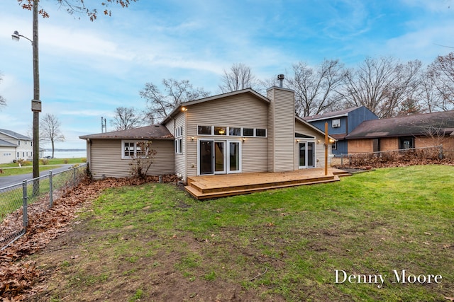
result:
[[[87,1],[87,3],[100,3]],[[454,0],[139,0],[112,7],[112,16],[74,18],[55,0],[41,0],[40,98],[57,115],[67,141],[101,132],[119,106],[145,108],[146,82],[188,79],[218,93],[224,69],[243,63],[259,79],[299,61],[339,59],[354,67],[365,57],[392,56],[430,64],[453,51]],[[16,0],[0,1],[0,128],[27,134],[32,123],[32,16]],[[49,147],[49,145],[41,145]]]

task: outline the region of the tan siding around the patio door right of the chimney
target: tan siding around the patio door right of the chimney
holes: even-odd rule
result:
[[[304,134],[310,137],[315,137],[315,139],[299,139],[300,141],[315,141],[315,168],[324,168],[325,167],[325,136],[320,132],[317,132],[314,129],[311,129],[307,125],[299,122],[299,120],[295,120],[295,132],[299,134]],[[320,141],[319,143],[317,141]],[[299,144],[295,141],[295,161],[294,161],[294,168],[299,168]],[[330,146],[331,148],[331,146]],[[331,149],[328,150],[328,153],[331,153]],[[328,164],[330,158],[328,157]]]

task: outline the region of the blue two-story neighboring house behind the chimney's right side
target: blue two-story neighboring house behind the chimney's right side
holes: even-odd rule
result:
[[[325,123],[328,122],[328,134],[337,139],[333,143],[332,150],[335,156],[348,154],[348,143],[345,137],[350,134],[359,124],[367,120],[377,120],[374,112],[364,106],[323,113],[323,115],[312,115],[303,117],[306,122],[325,131]]]

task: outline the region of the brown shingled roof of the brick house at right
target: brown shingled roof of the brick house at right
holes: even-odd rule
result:
[[[446,135],[452,134],[454,131],[454,110],[367,120],[350,132],[345,139],[426,135],[429,129],[440,129]]]

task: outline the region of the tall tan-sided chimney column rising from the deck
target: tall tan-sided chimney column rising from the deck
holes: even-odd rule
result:
[[[267,93],[271,100],[268,112],[270,171],[294,170],[294,91],[273,87]]]

